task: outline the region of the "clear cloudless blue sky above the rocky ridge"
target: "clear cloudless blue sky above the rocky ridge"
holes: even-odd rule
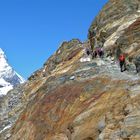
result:
[[[65,40],[87,39],[107,0],[0,0],[0,48],[24,78]]]

